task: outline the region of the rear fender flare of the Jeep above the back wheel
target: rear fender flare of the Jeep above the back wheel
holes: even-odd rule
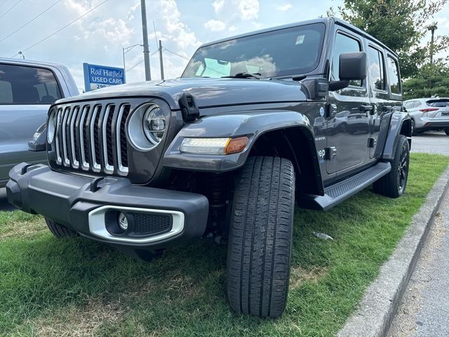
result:
[[[396,144],[398,143],[398,138],[399,135],[401,135],[401,132],[408,137],[408,142],[411,146],[411,121],[412,119],[408,112],[394,112],[391,114],[389,131],[387,134],[387,139],[385,140],[382,159],[387,161],[394,159],[394,150],[396,149]]]

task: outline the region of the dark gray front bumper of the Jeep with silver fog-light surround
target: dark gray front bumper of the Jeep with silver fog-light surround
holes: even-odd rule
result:
[[[8,201],[18,209],[114,246],[155,251],[201,237],[206,230],[208,199],[201,194],[135,186],[126,178],[73,176],[42,164],[19,164],[9,176]],[[123,231],[119,212],[140,219],[139,228],[153,220],[156,227],[162,228],[161,222],[166,227],[142,233],[131,224]]]

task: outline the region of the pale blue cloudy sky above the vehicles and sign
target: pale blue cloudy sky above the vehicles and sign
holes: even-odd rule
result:
[[[156,39],[166,48],[168,79],[180,77],[203,43],[318,18],[342,0],[147,0],[146,4],[152,79],[161,78]],[[449,6],[434,20],[438,34],[449,34]],[[0,0],[0,57],[18,58],[22,51],[29,60],[65,65],[81,90],[83,62],[123,67],[122,48],[134,44],[142,44],[140,0]],[[142,47],[131,49],[125,60],[127,81],[145,80]]]

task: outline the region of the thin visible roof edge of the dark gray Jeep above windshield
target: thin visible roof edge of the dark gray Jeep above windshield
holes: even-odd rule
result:
[[[212,44],[218,44],[220,42],[225,42],[225,41],[230,41],[230,40],[234,40],[234,39],[239,39],[241,37],[250,37],[253,35],[257,35],[257,34],[262,34],[262,33],[266,33],[266,32],[273,32],[275,30],[279,30],[279,29],[286,29],[286,28],[291,28],[291,27],[297,27],[297,26],[302,26],[302,25],[310,25],[312,23],[324,23],[326,26],[328,25],[340,25],[342,27],[345,27],[353,32],[355,32],[356,34],[359,34],[363,37],[366,37],[367,39],[370,39],[371,41],[375,42],[376,44],[382,46],[383,48],[387,49],[387,51],[389,51],[389,53],[393,54],[394,57],[397,58],[397,54],[391,50],[391,48],[387,47],[385,44],[382,44],[381,41],[377,40],[375,37],[372,37],[370,34],[363,32],[363,30],[361,30],[360,28],[357,28],[354,25],[351,25],[349,22],[346,22],[344,20],[340,20],[338,18],[318,18],[318,19],[314,19],[314,20],[306,20],[306,21],[300,21],[300,22],[293,22],[293,23],[289,23],[287,25],[281,25],[281,26],[276,26],[276,27],[269,27],[269,28],[265,28],[265,29],[260,29],[260,30],[256,30],[254,32],[248,32],[248,33],[244,33],[244,34],[239,34],[239,35],[235,35],[233,37],[226,37],[225,39],[220,39],[220,40],[216,40],[216,41],[210,41],[207,42],[206,44],[202,44],[199,48],[203,47],[203,46],[210,46]]]

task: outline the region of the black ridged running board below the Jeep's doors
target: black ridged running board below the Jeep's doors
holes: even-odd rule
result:
[[[326,187],[323,196],[304,195],[300,197],[298,204],[305,209],[320,209],[327,211],[357,192],[360,192],[368,185],[371,185],[377,179],[385,176],[389,171],[391,171],[391,164],[389,162],[380,162],[366,171],[347,178],[347,180]]]

